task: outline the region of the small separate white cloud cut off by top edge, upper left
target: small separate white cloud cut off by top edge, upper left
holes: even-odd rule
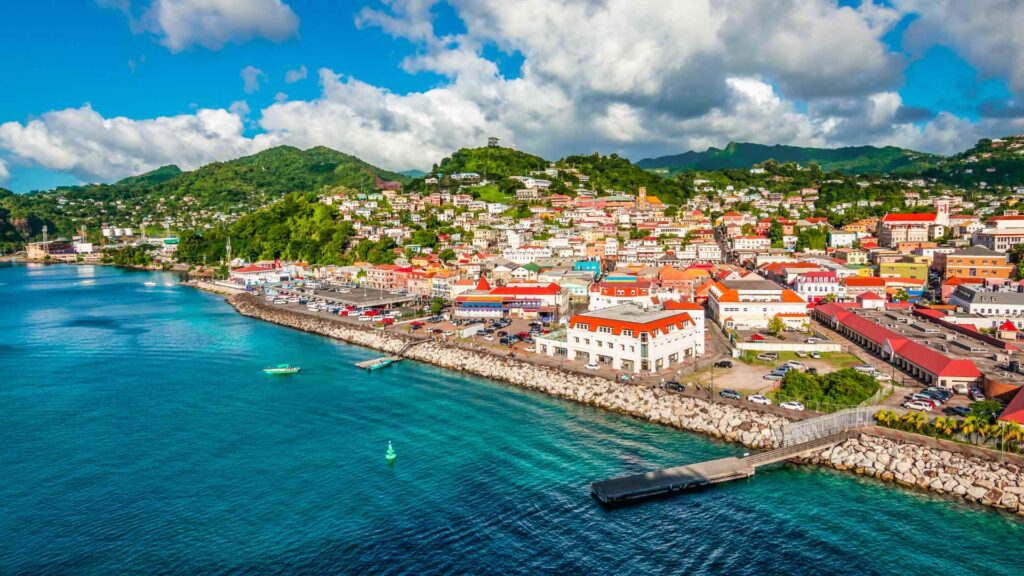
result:
[[[131,0],[97,3],[121,10],[133,32],[156,34],[172,52],[190,46],[219,50],[255,38],[283,42],[299,30],[298,16],[282,0],[152,0],[139,10]]]

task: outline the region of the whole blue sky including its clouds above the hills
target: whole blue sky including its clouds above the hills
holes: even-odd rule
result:
[[[195,0],[8,0],[0,186],[108,181],[278,143],[409,169],[487,134],[552,158],[639,159],[730,139],[952,152],[1018,128],[1013,115],[981,113],[1019,108],[1020,10],[1005,2],[985,20],[943,0],[809,0],[744,38],[707,1],[719,4],[609,0],[602,14],[541,0],[213,0],[209,16]],[[268,10],[295,26],[258,22]],[[206,27],[224,36],[195,32]],[[987,44],[973,45],[986,28]],[[638,48],[648,36],[656,51]],[[262,72],[258,90],[244,89],[246,67]]]

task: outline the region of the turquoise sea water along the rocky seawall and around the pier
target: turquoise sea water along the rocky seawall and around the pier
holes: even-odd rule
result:
[[[0,574],[1024,572],[1024,522],[817,468],[604,509],[594,480],[739,450],[413,362],[368,374],[373,351],[175,280],[0,264]],[[302,373],[260,371],[283,362]]]

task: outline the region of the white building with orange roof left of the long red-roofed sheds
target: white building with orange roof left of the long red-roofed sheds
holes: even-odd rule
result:
[[[800,328],[807,322],[807,302],[770,280],[748,277],[712,285],[708,290],[708,314],[729,329],[764,329],[776,316],[786,326]]]

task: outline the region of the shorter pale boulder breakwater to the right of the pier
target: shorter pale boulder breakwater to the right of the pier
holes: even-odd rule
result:
[[[1024,515],[1024,468],[1014,463],[866,434],[802,461]]]

